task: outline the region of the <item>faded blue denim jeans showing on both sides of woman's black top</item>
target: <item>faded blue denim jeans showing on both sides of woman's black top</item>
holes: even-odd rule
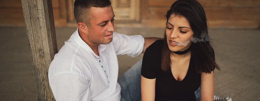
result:
[[[120,101],[141,101],[141,68],[142,59],[119,78],[118,83],[121,87]],[[196,100],[200,101],[200,88],[194,93]]]

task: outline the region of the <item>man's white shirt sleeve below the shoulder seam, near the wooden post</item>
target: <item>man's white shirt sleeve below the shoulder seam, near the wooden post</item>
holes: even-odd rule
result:
[[[57,101],[90,101],[90,80],[76,72],[56,74],[50,82]]]

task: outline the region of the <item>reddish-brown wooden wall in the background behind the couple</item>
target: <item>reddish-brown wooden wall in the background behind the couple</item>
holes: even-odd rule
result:
[[[133,9],[135,12],[138,12],[140,16],[135,18],[132,22],[115,17],[115,26],[117,27],[165,27],[166,20],[164,15],[166,15],[170,5],[176,0],[112,1],[138,2],[140,5],[138,10]],[[205,9],[210,28],[260,28],[259,0],[199,1]],[[52,4],[56,27],[76,27],[72,10],[73,0],[52,0]],[[116,9],[115,11],[117,15],[118,12],[120,13],[120,11]],[[122,14],[125,13],[126,12],[122,11]],[[0,0],[0,26],[24,26],[21,0]]]

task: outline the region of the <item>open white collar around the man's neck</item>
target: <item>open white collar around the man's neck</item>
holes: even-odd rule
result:
[[[99,59],[102,54],[102,51],[104,51],[106,49],[105,44],[99,44],[98,49],[99,49],[99,56],[96,55],[92,49],[88,46],[88,44],[86,44],[79,36],[79,32],[78,32],[79,28],[77,28],[77,30],[75,31],[75,41],[77,44],[79,44],[84,50],[90,52],[94,57],[96,57],[97,59]]]

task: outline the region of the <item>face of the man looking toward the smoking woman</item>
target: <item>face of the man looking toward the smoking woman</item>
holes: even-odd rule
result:
[[[88,42],[92,44],[109,44],[114,32],[114,11],[112,6],[104,8],[91,7],[90,27],[88,28]]]

